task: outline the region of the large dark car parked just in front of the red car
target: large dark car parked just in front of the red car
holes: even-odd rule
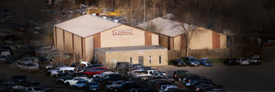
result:
[[[94,81],[98,82],[100,86],[105,87],[107,84],[112,84],[113,82],[116,82],[118,80],[128,80],[128,78],[120,73],[111,73],[102,76],[101,78],[98,78]]]

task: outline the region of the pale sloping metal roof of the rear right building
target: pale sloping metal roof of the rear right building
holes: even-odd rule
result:
[[[184,26],[184,27],[183,27]],[[179,23],[177,21],[172,21],[169,19],[163,19],[162,17],[158,17],[151,21],[147,21],[136,27],[140,27],[146,30],[154,30],[154,32],[163,34],[170,37],[179,36],[180,34],[184,34],[185,32],[195,30],[197,26],[190,25],[188,23]]]

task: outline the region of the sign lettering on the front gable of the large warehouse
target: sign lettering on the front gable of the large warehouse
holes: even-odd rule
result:
[[[133,34],[133,30],[118,30],[112,31],[112,36],[105,36],[105,39],[116,39],[116,38],[140,38],[140,35]]]

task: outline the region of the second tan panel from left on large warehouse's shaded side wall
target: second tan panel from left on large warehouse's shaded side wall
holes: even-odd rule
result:
[[[65,53],[73,53],[73,34],[65,31]]]

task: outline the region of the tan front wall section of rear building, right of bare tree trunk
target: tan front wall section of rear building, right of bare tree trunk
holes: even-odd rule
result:
[[[193,30],[189,47],[190,49],[212,49],[212,30],[203,27]]]

